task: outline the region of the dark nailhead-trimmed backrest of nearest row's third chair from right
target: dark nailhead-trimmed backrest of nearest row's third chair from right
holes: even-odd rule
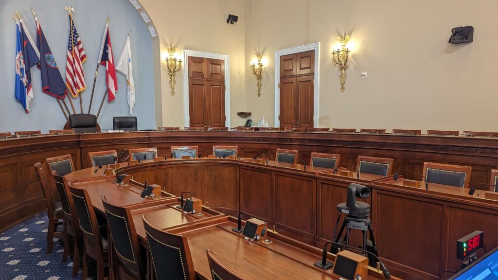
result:
[[[105,196],[102,203],[106,210],[107,224],[111,232],[117,259],[128,270],[136,272],[143,279],[144,270],[140,263],[140,247],[136,235],[135,224],[129,209],[110,204]],[[113,268],[116,270],[117,268]]]

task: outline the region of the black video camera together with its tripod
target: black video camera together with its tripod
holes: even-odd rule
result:
[[[378,257],[377,245],[375,244],[375,239],[373,238],[372,221],[369,218],[370,214],[370,204],[356,201],[356,198],[367,198],[370,196],[370,189],[366,186],[360,184],[350,184],[348,186],[348,198],[346,202],[339,203],[337,205],[337,211],[339,211],[339,218],[337,219],[336,227],[334,229],[334,239],[338,244],[343,244],[349,246],[349,235],[351,230],[360,230],[363,233],[363,247],[362,249],[371,253],[368,254],[369,266],[376,267],[377,260],[371,255]],[[336,236],[337,226],[339,225],[339,220],[342,214],[346,214],[344,217],[343,224],[339,230],[339,234]],[[341,236],[346,229],[346,235],[343,239]],[[367,240],[367,232],[370,233],[370,240]],[[335,245],[330,248],[330,252],[333,254],[338,253],[338,249],[342,250],[342,246]]]

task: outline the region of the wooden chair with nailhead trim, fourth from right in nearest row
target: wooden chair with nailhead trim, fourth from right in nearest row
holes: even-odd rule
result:
[[[69,187],[78,222],[83,234],[83,270],[81,279],[88,275],[88,258],[97,261],[97,280],[104,280],[104,263],[109,260],[109,241],[106,237],[107,227],[99,225],[95,210],[87,190]]]

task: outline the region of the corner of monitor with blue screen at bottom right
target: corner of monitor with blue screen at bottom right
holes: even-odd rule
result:
[[[498,247],[449,280],[498,280]]]

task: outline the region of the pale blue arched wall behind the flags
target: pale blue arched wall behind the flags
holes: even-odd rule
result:
[[[15,22],[10,14],[14,10],[19,11],[34,37],[36,26],[31,14],[31,7],[34,8],[59,66],[59,71],[65,80],[69,38],[69,19],[64,11],[66,5],[72,5],[75,8],[75,24],[88,57],[83,64],[87,84],[87,90],[82,92],[84,113],[87,113],[90,103],[102,35],[106,19],[109,17],[116,63],[123,50],[126,35],[130,29],[132,30],[130,37],[131,55],[136,93],[133,116],[138,118],[138,129],[155,128],[152,39],[143,19],[128,0],[1,0],[0,132],[41,130],[42,133],[47,133],[49,129],[62,129],[66,123],[57,101],[41,91],[40,71],[36,67],[31,68],[35,98],[31,103],[29,114],[26,114],[22,106],[15,100]],[[101,66],[92,105],[92,114],[95,115],[106,89],[105,73],[106,68]],[[118,87],[119,93],[116,100],[109,103],[106,99],[102,108],[98,122],[104,129],[112,129],[113,117],[129,116],[129,107],[126,101],[126,81],[121,74],[118,74]],[[79,100],[74,99],[73,104],[79,111]]]

